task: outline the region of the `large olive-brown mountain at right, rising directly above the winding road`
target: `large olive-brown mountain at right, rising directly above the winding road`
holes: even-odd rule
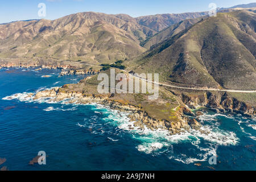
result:
[[[218,13],[156,43],[129,66],[179,85],[255,89],[255,30],[253,11]]]

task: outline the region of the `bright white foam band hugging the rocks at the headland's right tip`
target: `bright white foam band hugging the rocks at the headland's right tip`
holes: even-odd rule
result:
[[[206,117],[211,121],[216,121],[216,117],[222,114],[214,114],[213,117],[211,115],[207,115]],[[204,117],[204,119],[206,119]],[[139,151],[152,152],[158,150],[160,148],[155,147],[155,150],[151,150],[150,143],[163,143],[163,141],[167,141],[168,143],[180,143],[180,142],[195,142],[197,144],[200,143],[198,138],[203,138],[208,142],[212,142],[215,144],[221,144],[224,146],[227,145],[236,145],[239,142],[239,138],[236,137],[236,134],[232,131],[224,131],[218,129],[216,126],[204,125],[201,127],[201,131],[199,130],[191,130],[191,131],[183,131],[183,133],[169,135],[169,132],[166,130],[158,129],[158,130],[150,130],[146,126],[143,130],[140,130],[138,127],[134,127],[133,123],[130,122],[129,118],[127,118],[127,114],[121,114],[121,117],[117,117],[117,113],[110,114],[109,119],[113,119],[115,123],[118,125],[119,129],[130,132],[131,134],[137,134],[138,140],[148,140],[148,142],[143,142],[138,148]],[[132,126],[132,127],[131,127]],[[134,135],[136,136],[136,135]],[[164,142],[166,143],[166,142]],[[149,148],[148,148],[149,147]],[[154,147],[153,147],[154,148]],[[201,148],[201,151],[208,151],[208,149]]]

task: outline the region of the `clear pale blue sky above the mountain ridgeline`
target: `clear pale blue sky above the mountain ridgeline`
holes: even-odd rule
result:
[[[217,7],[231,7],[251,2],[256,0],[0,0],[0,23],[41,18],[53,20],[85,11],[129,14],[133,17],[186,13],[208,11],[210,3],[215,3]],[[38,7],[39,3],[46,5],[46,16],[38,15],[42,8]]]

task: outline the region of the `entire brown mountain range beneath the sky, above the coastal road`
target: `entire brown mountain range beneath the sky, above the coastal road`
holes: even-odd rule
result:
[[[255,89],[255,8],[205,14],[86,12],[0,24],[0,59],[129,60],[129,69],[172,84]]]

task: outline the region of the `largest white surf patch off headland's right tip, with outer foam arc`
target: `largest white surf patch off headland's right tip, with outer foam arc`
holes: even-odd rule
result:
[[[185,164],[194,163],[194,162],[203,162],[208,159],[208,156],[214,151],[212,145],[220,144],[223,146],[236,145],[239,142],[236,134],[232,131],[225,131],[218,129],[217,116],[222,114],[214,115],[204,115],[205,121],[213,121],[212,125],[204,125],[199,130],[183,131],[183,133],[170,135],[169,131],[166,130],[150,130],[146,126],[143,130],[138,127],[134,127],[133,123],[130,122],[127,117],[127,113],[118,113],[118,111],[111,111],[113,114],[110,114],[108,118],[105,118],[108,121],[108,125],[115,123],[117,127],[124,132],[128,132],[133,136],[133,139],[141,142],[136,148],[140,152],[151,155],[159,155],[161,153],[167,152],[170,155],[170,152],[173,152],[172,144],[178,144],[182,142],[192,143],[199,152],[195,156],[186,156],[177,154],[170,155],[170,159],[175,159],[177,161],[183,162]],[[230,118],[230,117],[229,117]],[[112,121],[112,122],[111,122]],[[113,122],[114,121],[114,122]],[[208,141],[206,147],[200,147],[200,139]],[[209,143],[210,142],[210,143]]]

